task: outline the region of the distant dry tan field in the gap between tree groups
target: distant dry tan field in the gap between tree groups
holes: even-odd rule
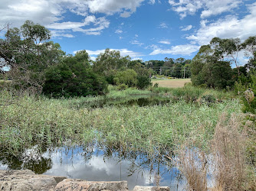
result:
[[[190,83],[190,79],[152,79],[153,85],[159,84],[159,87],[181,88],[185,83]]]

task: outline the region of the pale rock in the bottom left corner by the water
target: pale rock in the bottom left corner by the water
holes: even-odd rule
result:
[[[0,190],[54,190],[66,177],[36,175],[31,170],[0,172]]]

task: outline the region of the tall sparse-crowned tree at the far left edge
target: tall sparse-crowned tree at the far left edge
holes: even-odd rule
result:
[[[50,31],[40,24],[25,21],[21,28],[7,28],[0,40],[0,70],[9,68],[12,84],[19,89],[41,92],[44,70],[59,63],[64,52],[59,44],[49,41]]]

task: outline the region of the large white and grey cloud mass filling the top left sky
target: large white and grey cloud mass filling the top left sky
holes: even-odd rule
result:
[[[145,0],[2,0],[0,6],[0,24],[10,23],[11,27],[20,27],[26,20],[33,20],[54,30],[82,31],[85,34],[100,34],[101,30],[83,28],[89,24],[107,28],[109,23],[98,24],[100,18],[94,13],[113,15],[119,13],[129,17]],[[147,0],[153,2],[152,0]],[[68,11],[84,17],[84,21],[64,21]],[[104,18],[104,17],[103,17]],[[103,27],[104,26],[104,27]],[[96,28],[98,29],[98,28]],[[57,33],[55,33],[57,34]],[[61,33],[58,33],[61,34]],[[66,33],[62,33],[66,34]],[[67,36],[67,35],[66,35]]]

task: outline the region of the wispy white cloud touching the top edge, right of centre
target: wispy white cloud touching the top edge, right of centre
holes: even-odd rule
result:
[[[169,0],[172,10],[178,12],[181,18],[194,15],[199,9],[202,9],[201,18],[207,18],[238,8],[241,3],[241,0]]]

